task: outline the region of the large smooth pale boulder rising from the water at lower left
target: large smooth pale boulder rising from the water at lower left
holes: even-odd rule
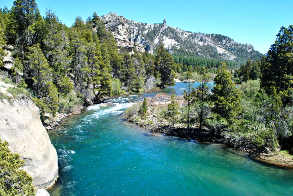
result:
[[[12,153],[25,160],[23,169],[37,189],[54,184],[58,177],[57,152],[41,123],[39,108],[31,100],[0,102],[0,138],[8,141]]]

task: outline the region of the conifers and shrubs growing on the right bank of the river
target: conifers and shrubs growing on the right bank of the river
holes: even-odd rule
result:
[[[268,56],[248,59],[232,72],[222,62],[213,87],[205,67],[200,69],[200,83],[186,85],[185,102],[178,105],[172,95],[168,107],[158,112],[174,126],[184,124],[201,132],[207,127],[235,148],[253,153],[293,152],[293,26],[281,27]],[[192,78],[191,73],[186,74]],[[236,86],[237,85],[237,86]]]

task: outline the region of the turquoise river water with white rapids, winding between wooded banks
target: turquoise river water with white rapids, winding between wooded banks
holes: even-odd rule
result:
[[[164,91],[179,95],[183,88]],[[133,101],[154,95],[90,106],[51,131],[60,178],[50,195],[293,195],[293,170],[221,145],[152,134],[123,119]]]

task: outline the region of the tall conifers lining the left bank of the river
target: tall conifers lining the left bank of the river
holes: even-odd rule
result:
[[[0,45],[0,69],[29,90],[42,120],[45,113],[68,113],[107,96],[174,84],[175,62],[163,45],[156,56],[118,51],[96,13],[67,27],[50,9],[42,17],[34,0],[16,0],[10,10],[0,8]],[[4,67],[6,50],[14,59],[11,70]]]

